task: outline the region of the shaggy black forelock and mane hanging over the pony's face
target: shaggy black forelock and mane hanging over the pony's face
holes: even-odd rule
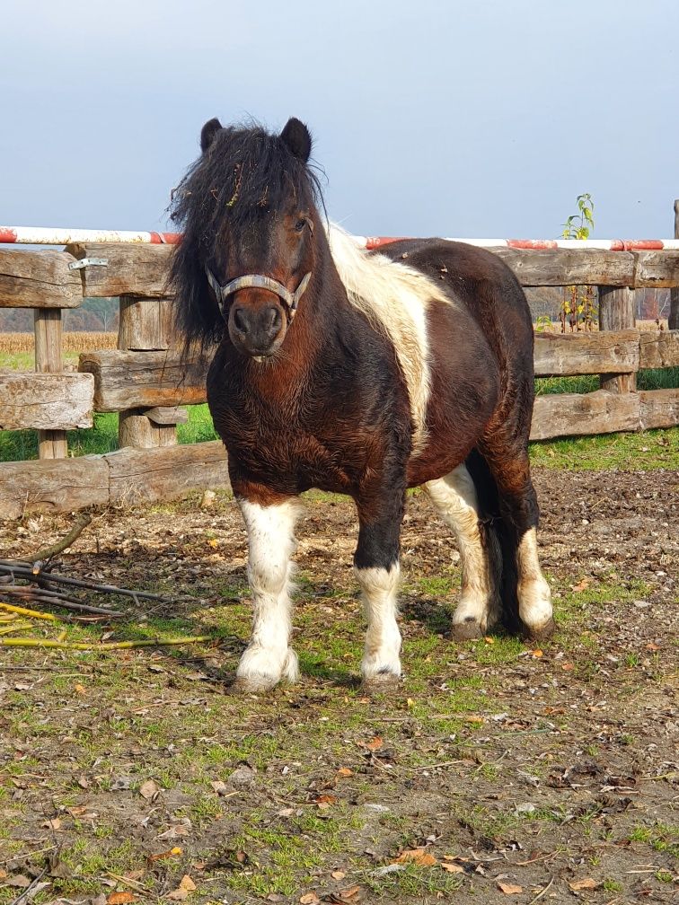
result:
[[[263,214],[292,200],[322,205],[319,178],[279,135],[261,126],[219,129],[206,152],[189,167],[168,211],[183,233],[173,257],[170,286],[175,322],[186,347],[218,342],[225,324],[207,289],[206,259],[220,235],[239,235]]]

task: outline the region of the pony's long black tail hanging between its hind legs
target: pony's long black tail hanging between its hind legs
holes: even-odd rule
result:
[[[516,564],[519,538],[514,526],[502,517],[498,487],[483,455],[473,449],[464,464],[476,489],[481,537],[496,588],[494,605],[500,608],[505,628],[517,633],[521,629]]]

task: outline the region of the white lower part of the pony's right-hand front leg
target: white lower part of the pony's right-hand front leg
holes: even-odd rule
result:
[[[400,676],[401,633],[398,631],[397,588],[401,569],[395,563],[386,568],[354,569],[363,590],[363,608],[368,620],[366,648],[361,672],[364,681],[380,673]]]

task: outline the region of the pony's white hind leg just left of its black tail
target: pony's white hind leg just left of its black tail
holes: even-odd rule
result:
[[[445,523],[454,529],[460,549],[462,593],[453,624],[477,624],[481,632],[486,632],[498,620],[501,606],[497,581],[481,541],[472,476],[464,465],[458,465],[445,477],[428,481],[425,490]]]

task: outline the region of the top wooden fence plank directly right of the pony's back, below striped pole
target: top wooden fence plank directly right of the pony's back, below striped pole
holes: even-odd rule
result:
[[[598,249],[493,248],[516,274],[521,286],[629,286],[634,279],[631,252]]]

